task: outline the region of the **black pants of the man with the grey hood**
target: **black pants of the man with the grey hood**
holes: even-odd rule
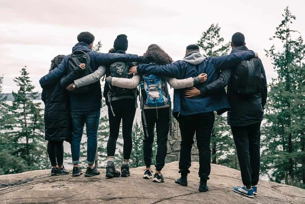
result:
[[[211,172],[211,133],[215,121],[214,112],[179,116],[178,118],[181,132],[181,148],[179,169],[182,173],[188,172],[191,167],[191,151],[194,144],[194,134],[196,133],[197,147],[199,150],[199,177],[204,180],[209,179]]]

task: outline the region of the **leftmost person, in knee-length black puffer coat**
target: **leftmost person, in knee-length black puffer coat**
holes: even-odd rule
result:
[[[54,57],[50,71],[56,68],[64,57],[64,55]],[[84,64],[81,64],[77,67],[78,72],[82,72],[84,68]],[[67,90],[60,85],[60,80],[41,87],[41,99],[45,103],[45,140],[48,141],[48,155],[52,164],[51,175],[69,174],[70,172],[63,166],[63,141],[71,142],[72,137]]]

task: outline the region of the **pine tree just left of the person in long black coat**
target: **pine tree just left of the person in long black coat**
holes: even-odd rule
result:
[[[34,103],[32,100],[38,97],[38,92],[30,81],[26,67],[20,71],[21,75],[14,79],[19,86],[17,93],[13,92],[13,105],[10,108],[14,114],[14,131],[12,137],[13,155],[22,158],[28,169],[45,168],[45,159],[41,157],[45,152],[44,145],[44,123],[41,114],[41,103]]]

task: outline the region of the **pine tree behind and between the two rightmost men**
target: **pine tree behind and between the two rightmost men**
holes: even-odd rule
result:
[[[203,56],[222,56],[230,51],[230,43],[224,43],[224,38],[220,36],[218,24],[212,24],[206,31],[202,33],[202,37],[197,45],[203,51]],[[229,136],[229,127],[223,126],[226,117],[221,118],[220,115],[215,116],[215,123],[211,134],[211,162],[214,164],[231,165],[236,159],[235,146],[233,139]],[[230,156],[230,158],[227,158]]]

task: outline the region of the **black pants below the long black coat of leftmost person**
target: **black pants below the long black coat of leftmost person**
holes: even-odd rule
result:
[[[63,165],[63,141],[48,141],[47,149],[52,166]]]

